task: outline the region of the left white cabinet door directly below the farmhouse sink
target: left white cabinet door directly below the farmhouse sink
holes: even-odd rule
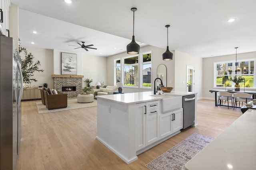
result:
[[[172,112],[159,115],[159,137],[160,139],[172,134]]]

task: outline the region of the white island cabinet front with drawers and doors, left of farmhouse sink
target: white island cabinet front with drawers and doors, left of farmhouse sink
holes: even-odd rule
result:
[[[140,150],[159,138],[159,101],[136,104],[136,150]]]

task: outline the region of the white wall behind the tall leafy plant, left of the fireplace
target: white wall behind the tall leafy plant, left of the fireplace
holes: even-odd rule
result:
[[[27,49],[28,53],[32,53],[34,56],[34,61],[40,61],[41,65],[39,66],[39,69],[44,70],[44,72],[34,72],[34,78],[37,80],[37,82],[32,82],[30,84],[31,87],[43,86],[44,83],[48,83],[48,87],[53,88],[53,79],[51,76],[53,74],[53,50],[35,47],[25,48]]]

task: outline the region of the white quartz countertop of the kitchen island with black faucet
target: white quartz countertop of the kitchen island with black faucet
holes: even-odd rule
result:
[[[159,92],[161,94],[159,94]],[[156,95],[154,92],[136,92],[136,93],[124,93],[124,94],[110,94],[110,95],[102,95],[97,96],[97,99],[111,100],[113,102],[118,102],[122,104],[136,104],[143,102],[150,102],[154,100],[161,100],[164,98],[172,98],[175,96],[188,96],[191,94],[197,94],[194,92],[170,92],[170,93],[162,93],[162,91],[158,91]]]

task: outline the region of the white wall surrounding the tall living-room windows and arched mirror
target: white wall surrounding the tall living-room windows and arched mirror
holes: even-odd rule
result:
[[[152,86],[154,87],[154,80],[157,77],[156,71],[159,64],[165,64],[167,68],[167,86],[174,86],[174,61],[163,61],[162,54],[166,51],[166,49],[154,47],[148,45],[146,47],[140,48],[140,53],[146,53],[152,51]],[[113,55],[108,57],[107,59],[107,82],[104,84],[114,86],[114,60],[120,59],[121,57],[128,57],[131,56],[129,54],[120,53],[117,55]],[[130,92],[144,92],[144,91],[152,91],[152,89],[139,89],[139,88],[123,88],[123,92],[130,93]]]

